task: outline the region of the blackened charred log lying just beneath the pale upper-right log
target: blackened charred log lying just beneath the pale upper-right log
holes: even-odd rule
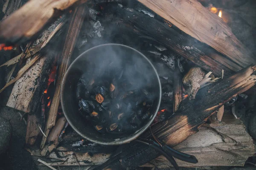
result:
[[[186,57],[204,70],[212,71],[216,76],[221,76],[222,69],[226,75],[231,75],[242,68],[235,59],[227,59],[208,45],[192,37],[185,37],[159,20],[134,9],[129,10],[111,4],[104,8],[103,16],[107,23],[103,23],[107,30],[105,34],[114,36],[125,32],[133,37],[155,41]]]

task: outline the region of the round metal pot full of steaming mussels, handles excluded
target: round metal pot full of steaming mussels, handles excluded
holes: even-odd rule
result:
[[[67,121],[98,144],[136,139],[153,122],[160,101],[154,66],[139,51],[119,44],[85,51],[70,65],[61,87]]]

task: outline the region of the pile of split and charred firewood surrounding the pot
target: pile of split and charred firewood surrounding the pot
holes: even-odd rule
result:
[[[161,60],[175,73],[170,78],[174,87],[173,99],[169,101],[173,103],[172,116],[153,125],[153,133],[166,144],[198,158],[198,164],[178,161],[179,166],[242,166],[254,154],[253,139],[244,125],[237,120],[204,123],[216,111],[221,120],[222,106],[256,84],[253,54],[220,17],[196,0],[138,1],[131,5],[126,0],[72,0],[68,3],[66,0],[41,0],[40,3],[30,0],[19,9],[21,5],[12,5],[12,0],[6,1],[5,17],[0,23],[0,47],[19,48],[19,45],[26,45],[26,48],[22,54],[1,63],[0,67],[12,65],[11,76],[15,69],[19,71],[0,92],[14,84],[7,106],[28,113],[26,147],[34,156],[49,158],[47,162],[52,166],[100,165],[96,167],[99,170],[142,165],[169,167],[168,161],[159,153],[140,144],[124,145],[109,159],[112,152],[102,155],[99,151],[102,147],[97,145],[92,149],[87,144],[79,152],[63,141],[64,145],[60,145],[62,138],[59,136],[63,135],[67,125],[64,116],[58,116],[61,81],[70,61],[79,54],[77,50],[81,39],[84,37],[84,42],[85,39],[87,42],[87,37],[90,37],[92,40],[83,49],[106,41],[135,48],[143,42],[150,42],[166,49],[162,53],[141,51],[146,56],[152,55],[154,59]],[[151,16],[136,10],[140,3]],[[10,14],[6,6],[17,11]],[[93,26],[92,23],[97,23],[100,31],[95,27],[90,31],[88,25]],[[91,36],[92,32],[97,36]],[[179,58],[174,59],[178,61],[174,62],[174,70],[170,64],[172,56]],[[181,65],[180,58],[194,63],[186,75],[177,69]],[[43,113],[41,98],[48,88],[53,65],[58,65],[55,88],[49,111]],[[185,94],[188,95],[186,99]],[[150,138],[151,133],[147,131],[143,137]],[[66,139],[72,142],[78,140],[84,145],[76,134],[70,133]],[[52,152],[54,149],[55,152]],[[97,152],[91,155],[92,150]],[[220,161],[213,155],[222,155],[224,159]]]

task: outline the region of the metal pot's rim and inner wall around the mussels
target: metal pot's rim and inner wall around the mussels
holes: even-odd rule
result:
[[[92,125],[86,125],[78,113],[78,103],[76,100],[76,85],[81,75],[86,73],[91,67],[107,71],[110,67],[109,65],[125,64],[125,67],[129,67],[129,65],[134,66],[135,63],[137,69],[143,71],[143,78],[150,82],[152,88],[155,89],[154,93],[156,96],[151,107],[150,119],[144,123],[142,128],[126,136],[102,134],[97,132]],[[134,75],[133,72],[128,74]],[[126,45],[105,44],[85,51],[70,65],[61,84],[61,106],[70,126],[84,139],[98,144],[118,145],[137,139],[138,136],[148,129],[159,110],[161,94],[161,84],[157,71],[142,53]]]

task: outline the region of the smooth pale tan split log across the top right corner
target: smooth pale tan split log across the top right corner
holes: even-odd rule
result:
[[[138,0],[186,34],[225,54],[241,67],[256,64],[253,54],[231,28],[197,0]]]

